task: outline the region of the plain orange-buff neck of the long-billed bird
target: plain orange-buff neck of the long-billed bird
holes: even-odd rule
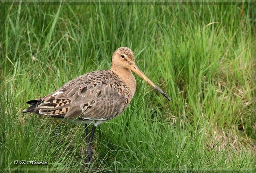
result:
[[[110,70],[115,72],[122,79],[122,81],[131,91],[131,96],[133,97],[136,91],[136,80],[132,75],[132,71],[130,69],[120,68],[116,66],[112,66]]]

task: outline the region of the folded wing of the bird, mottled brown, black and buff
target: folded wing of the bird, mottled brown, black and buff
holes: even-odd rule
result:
[[[108,120],[124,111],[130,94],[119,76],[101,70],[79,76],[41,100],[34,111],[39,114]]]

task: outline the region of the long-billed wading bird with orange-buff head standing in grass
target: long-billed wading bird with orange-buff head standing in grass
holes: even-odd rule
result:
[[[64,84],[58,90],[26,102],[30,106],[23,113],[35,113],[84,124],[86,135],[85,162],[92,160],[92,140],[97,125],[120,115],[129,105],[136,91],[132,71],[149,83],[169,101],[172,99],[141,72],[128,47],[120,47],[112,55],[110,70],[98,70]],[[89,136],[88,126],[92,124]]]

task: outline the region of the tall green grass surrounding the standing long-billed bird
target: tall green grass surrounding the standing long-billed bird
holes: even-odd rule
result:
[[[253,4],[1,5],[2,170],[256,170]],[[109,69],[121,46],[173,101],[135,75],[130,106],[97,128],[87,166],[83,126],[21,111]],[[13,163],[34,159],[48,164]]]

